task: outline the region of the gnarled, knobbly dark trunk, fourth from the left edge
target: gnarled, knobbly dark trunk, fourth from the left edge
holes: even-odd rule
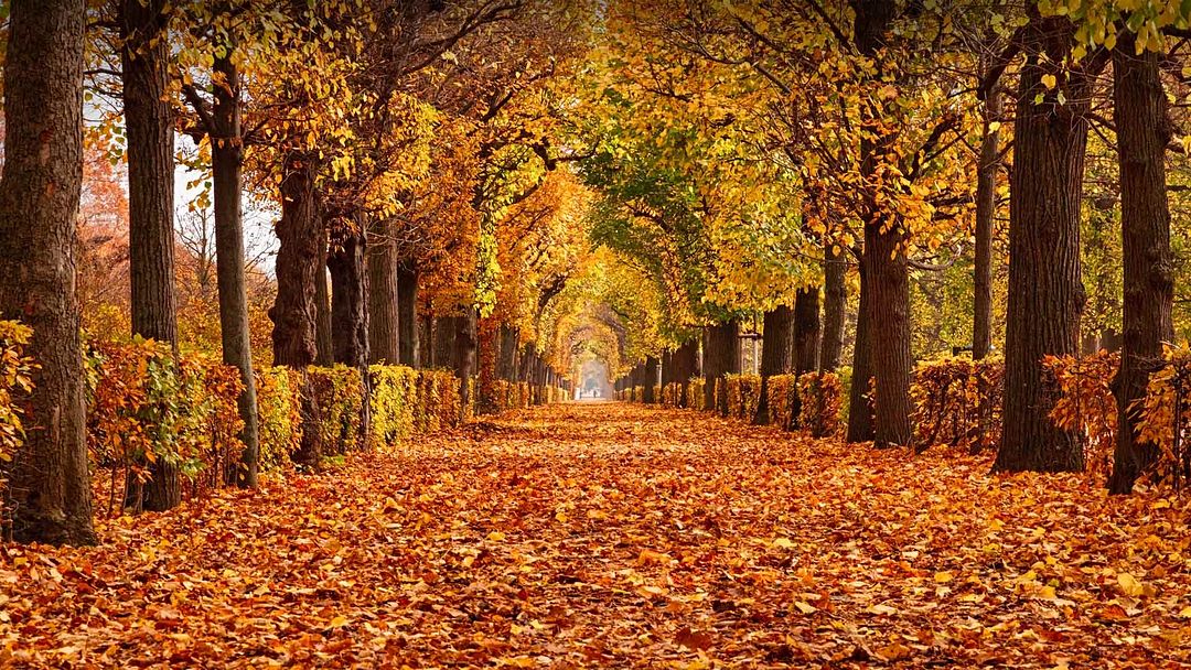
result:
[[[281,221],[276,226],[278,296],[269,309],[273,320],[273,363],[301,374],[301,445],[293,455],[298,465],[317,469],[322,463],[319,411],[306,368],[314,362],[314,277],[323,271],[319,246],[325,240],[314,198],[314,165],[292,152],[281,180]]]

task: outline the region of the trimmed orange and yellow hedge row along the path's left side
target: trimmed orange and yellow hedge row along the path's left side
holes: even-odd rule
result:
[[[21,400],[32,390],[36,363],[25,356],[32,332],[0,321],[0,495],[6,464],[24,444]],[[195,496],[227,480],[244,445],[238,399],[239,371],[202,353],[175,353],[168,344],[137,339],[101,344],[85,352],[87,446],[91,459],[112,469],[112,500],[121,475],[148,477],[149,464],[175,464],[183,493]],[[413,434],[459,426],[472,413],[461,403],[451,371],[397,365],[368,369],[370,433],[364,444],[360,370],[337,365],[266,368],[256,371],[260,467],[283,468],[301,445],[301,393],[308,381],[319,413],[323,455],[391,447]],[[474,382],[472,382],[474,384]],[[528,383],[500,384],[501,409],[526,407]],[[473,386],[474,389],[474,386]],[[474,397],[474,393],[473,393]],[[542,393],[545,402],[567,399],[561,388]]]

